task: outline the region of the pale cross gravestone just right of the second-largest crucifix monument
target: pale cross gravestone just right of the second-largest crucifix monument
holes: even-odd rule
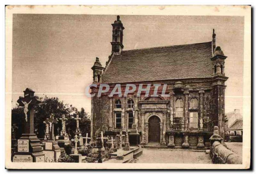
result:
[[[65,114],[63,114],[60,120],[61,120],[61,131],[60,131],[60,136],[58,140],[58,145],[60,146],[60,149],[64,149],[64,146],[69,145],[69,137],[66,132],[66,121],[68,119],[65,117]]]

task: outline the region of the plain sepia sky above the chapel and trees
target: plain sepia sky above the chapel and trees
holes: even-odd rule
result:
[[[91,112],[84,95],[95,57],[105,66],[111,54],[116,15],[13,14],[12,106],[26,87]],[[212,41],[225,61],[225,111],[243,103],[244,18],[221,16],[120,15],[124,50]],[[132,67],[131,67],[132,68]]]

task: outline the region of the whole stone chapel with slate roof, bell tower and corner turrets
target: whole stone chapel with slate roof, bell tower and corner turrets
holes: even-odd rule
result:
[[[92,66],[93,83],[98,85],[91,88],[96,94],[91,102],[92,140],[100,131],[115,137],[128,129],[131,145],[206,148],[214,126],[224,140],[227,57],[215,45],[214,29],[210,42],[123,50],[120,17],[111,25],[112,53],[106,66],[99,58]],[[98,97],[102,83],[110,89],[121,84],[122,92],[126,84],[152,85],[147,97],[143,91],[138,96],[137,89],[127,96]],[[152,95],[153,84],[167,84],[169,96]]]

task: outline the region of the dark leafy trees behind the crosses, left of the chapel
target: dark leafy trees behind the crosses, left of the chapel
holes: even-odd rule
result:
[[[80,125],[83,127],[83,131],[87,132],[88,130],[90,130],[89,116],[84,111],[84,108],[81,108],[81,111],[78,111],[76,107],[73,107],[69,104],[64,104],[63,101],[60,101],[58,97],[48,98],[47,96],[45,96],[44,98],[40,98],[40,100],[42,102],[38,105],[35,105],[34,117],[34,128],[38,138],[44,138],[45,124],[43,122],[46,120],[46,118],[49,118],[51,114],[54,114],[54,118],[57,119],[61,118],[62,114],[65,114],[66,118],[68,118],[66,124],[67,128],[70,128],[70,132],[75,132],[76,130],[76,121],[72,119],[72,117],[78,114],[79,117],[81,117]],[[21,120],[24,119],[23,117],[23,107],[15,107],[12,109],[12,123],[21,123]],[[17,126],[21,127],[21,125]],[[59,121],[54,126],[55,135],[59,134],[57,130],[58,127],[61,129],[61,121]]]

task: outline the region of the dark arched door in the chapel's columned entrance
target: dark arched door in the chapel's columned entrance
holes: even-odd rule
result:
[[[160,119],[156,116],[148,119],[148,142],[160,142]]]

